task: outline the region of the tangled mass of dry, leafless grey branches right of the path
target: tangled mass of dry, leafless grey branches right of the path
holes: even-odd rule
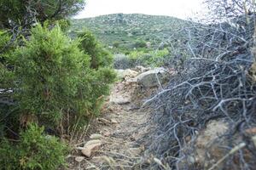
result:
[[[232,20],[233,24],[184,27],[182,32],[189,32],[187,39],[184,38],[184,47],[175,48],[175,42],[170,42],[174,54],[188,54],[193,58],[180,66],[179,74],[172,77],[167,88],[143,104],[154,108],[148,123],[157,125],[154,132],[150,132],[151,138],[143,139],[150,141],[147,159],[152,154],[173,169],[203,168],[189,160],[189,155],[195,152],[193,144],[198,131],[206,127],[207,122],[223,119],[230,122],[229,130],[219,137],[227,141],[227,147],[221,149],[224,153],[236,147],[237,135],[246,141],[234,156],[225,157],[224,167],[253,169],[256,166],[253,161],[256,150],[252,149],[254,145],[246,133],[256,126],[256,85],[250,78],[254,61],[251,53],[254,17],[251,15],[249,24],[244,20],[245,17],[240,16]],[[170,61],[170,65],[173,64],[175,62]],[[154,161],[143,166],[162,168]]]

